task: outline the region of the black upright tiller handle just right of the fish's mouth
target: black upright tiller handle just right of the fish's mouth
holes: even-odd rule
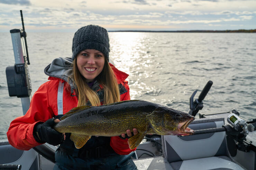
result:
[[[189,98],[189,107],[190,107],[189,114],[190,115],[195,116],[198,113],[199,110],[202,110],[202,108],[203,108],[203,99],[207,95],[207,93],[209,92],[209,90],[212,86],[212,83],[213,83],[212,81],[207,82],[207,84],[204,86],[202,92],[200,93],[198,99],[195,99],[194,102],[193,102],[193,100],[194,100],[194,96],[195,96],[197,90],[193,92],[193,94]]]

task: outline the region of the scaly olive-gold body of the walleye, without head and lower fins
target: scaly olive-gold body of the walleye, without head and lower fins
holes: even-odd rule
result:
[[[59,132],[76,131],[79,134],[91,136],[118,136],[126,133],[127,129],[132,130],[133,128],[141,131],[149,124],[146,116],[151,114],[157,106],[156,104],[153,107],[148,107],[148,103],[141,103],[141,106],[136,108],[138,111],[134,111],[135,106],[130,103],[120,103],[118,107],[117,104],[92,106],[78,111],[69,119],[62,120],[55,129]]]

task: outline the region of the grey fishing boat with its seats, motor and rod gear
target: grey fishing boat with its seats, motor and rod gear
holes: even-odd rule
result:
[[[21,18],[22,18],[22,11]],[[31,83],[27,65],[26,33],[11,30],[15,65],[6,68],[10,96],[21,98],[25,114],[30,104]],[[17,81],[13,81],[13,79]],[[195,116],[203,108],[203,99],[212,82],[190,97],[190,112]],[[236,110],[202,114],[189,127],[190,136],[146,135],[135,152],[130,153],[139,170],[256,170],[256,119],[248,121]],[[0,140],[0,170],[53,169],[57,146],[43,144],[28,151],[13,148],[8,140]]]

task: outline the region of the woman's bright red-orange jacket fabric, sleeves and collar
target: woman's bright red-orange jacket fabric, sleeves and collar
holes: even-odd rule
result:
[[[120,100],[130,100],[128,82],[125,81],[128,74],[119,71],[113,65],[111,65],[111,67],[116,74],[118,84],[121,83],[127,89],[126,93],[120,95]],[[29,150],[35,146],[41,145],[33,136],[35,124],[38,122],[45,122],[55,115],[58,115],[58,84],[60,81],[64,82],[64,80],[51,76],[48,79],[50,81],[42,84],[33,95],[27,113],[24,116],[17,117],[10,124],[7,131],[7,138],[10,145],[17,149]],[[71,96],[70,86],[65,82],[63,90],[63,113],[67,113],[69,110],[76,107],[77,102],[77,97],[73,95]],[[110,146],[119,155],[127,155],[135,150],[129,148],[127,140],[128,139],[121,139],[118,136],[111,137]]]

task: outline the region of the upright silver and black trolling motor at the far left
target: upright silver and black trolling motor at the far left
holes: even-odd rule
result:
[[[22,10],[20,10],[22,29],[10,30],[11,40],[15,58],[15,65],[6,67],[6,78],[9,96],[21,98],[23,114],[25,115],[30,104],[31,82],[28,72],[30,64],[26,32],[24,28]]]

